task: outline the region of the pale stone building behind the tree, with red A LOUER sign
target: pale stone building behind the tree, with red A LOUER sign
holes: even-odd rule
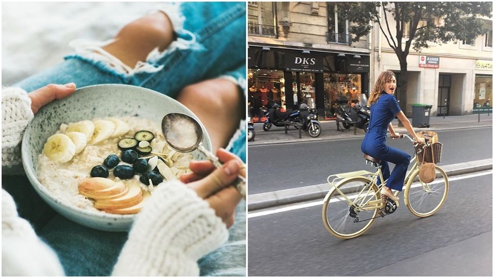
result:
[[[393,32],[395,21],[392,18],[388,14]],[[492,20],[483,20],[490,31],[473,41],[442,45],[429,42],[430,47],[420,53],[410,47],[406,60],[407,117],[411,117],[411,104],[414,103],[432,105],[431,116],[466,115],[477,113],[478,109],[487,113],[492,109]],[[427,25],[431,21],[442,23],[441,18],[423,18],[421,24]],[[377,23],[373,30],[371,87],[381,71],[392,70],[397,78],[400,72],[398,58]],[[406,40],[403,40],[403,46]],[[400,88],[396,94],[400,94]]]

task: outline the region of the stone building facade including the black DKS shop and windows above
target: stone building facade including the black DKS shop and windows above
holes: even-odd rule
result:
[[[319,120],[368,94],[370,36],[352,42],[337,3],[248,2],[248,78],[252,112],[272,103],[307,103]]]

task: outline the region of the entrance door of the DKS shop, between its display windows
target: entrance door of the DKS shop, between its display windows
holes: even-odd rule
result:
[[[312,72],[293,72],[293,98],[294,108],[306,103],[309,107],[316,108],[316,79]]]

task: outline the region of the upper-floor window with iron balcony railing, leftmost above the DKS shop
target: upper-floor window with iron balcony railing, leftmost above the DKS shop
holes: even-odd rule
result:
[[[249,35],[278,38],[275,2],[249,2]]]

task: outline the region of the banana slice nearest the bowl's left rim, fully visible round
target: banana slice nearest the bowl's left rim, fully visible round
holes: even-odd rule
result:
[[[69,136],[58,133],[48,137],[43,151],[49,159],[65,163],[74,157],[75,145]]]

